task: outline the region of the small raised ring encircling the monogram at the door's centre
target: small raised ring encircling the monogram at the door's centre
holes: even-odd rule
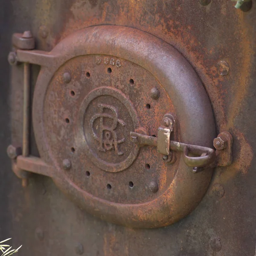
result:
[[[129,101],[129,99],[125,96],[124,93],[112,87],[98,87],[94,90],[91,90],[90,93],[87,94],[87,96],[84,98],[83,102],[81,103],[80,110],[79,110],[79,122],[76,125],[76,134],[77,134],[76,144],[80,145],[81,143],[79,142],[83,141],[84,149],[87,156],[91,157],[91,160],[93,161],[93,163],[96,166],[99,166],[99,168],[101,168],[102,170],[105,170],[107,172],[120,172],[128,168],[134,162],[140,149],[138,145],[135,145],[135,144],[133,145],[133,149],[131,150],[130,154],[121,163],[107,163],[104,160],[101,160],[99,157],[95,157],[95,155],[91,152],[86,139],[84,138],[84,115],[85,115],[86,109],[93,99],[96,99],[96,97],[101,95],[113,96],[116,99],[118,99],[120,102],[122,102],[122,104],[125,105],[125,108],[128,110],[131,116],[131,119],[134,125],[134,130],[139,127],[138,125],[139,119],[137,116],[137,112],[132,106],[131,101]],[[125,139],[129,140],[129,137]]]

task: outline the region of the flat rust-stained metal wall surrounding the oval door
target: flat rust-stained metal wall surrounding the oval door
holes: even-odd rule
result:
[[[197,0],[5,0],[0,6],[1,239],[23,244],[19,255],[74,255],[81,243],[87,256],[255,256],[255,4],[246,13],[228,0],[208,6]],[[169,227],[133,230],[100,221],[51,179],[33,175],[23,189],[11,171],[6,147],[11,132],[12,141],[21,142],[23,99],[22,67],[11,77],[7,62],[12,33],[30,29],[37,49],[51,50],[71,32],[100,24],[134,27],[172,44],[200,76],[217,133],[233,134],[233,164],[215,169],[202,202]],[[219,61],[228,62],[227,76],[220,75]],[[33,84],[38,70],[32,67]],[[35,143],[32,154],[37,155]]]

